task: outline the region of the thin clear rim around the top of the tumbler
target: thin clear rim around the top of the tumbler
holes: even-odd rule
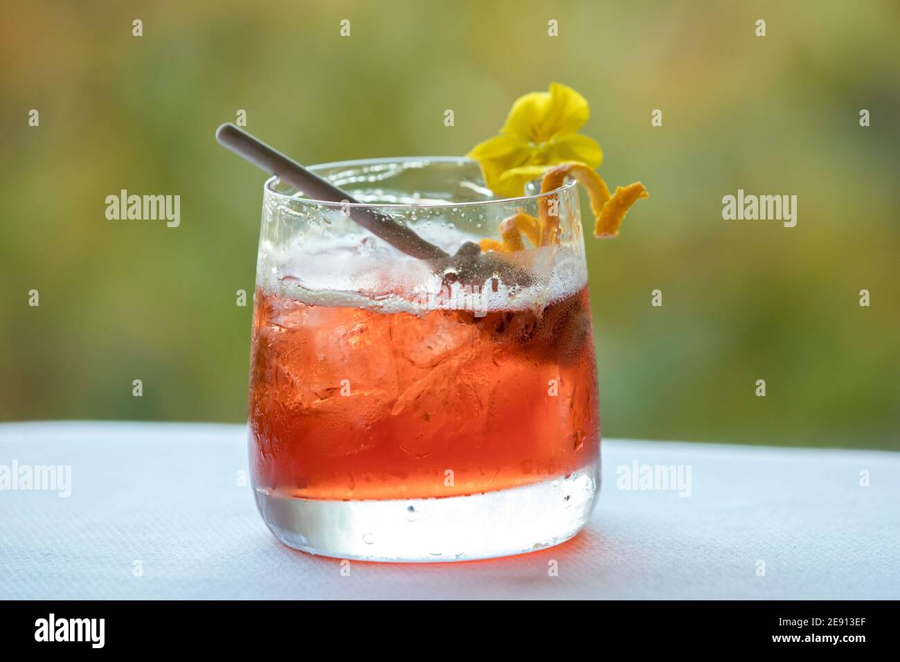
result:
[[[347,168],[350,166],[377,166],[388,163],[408,163],[408,162],[438,162],[438,163],[459,163],[462,165],[464,162],[468,163],[477,163],[474,159],[468,159],[466,157],[379,157],[375,159],[347,159],[343,161],[329,161],[328,163],[317,163],[314,166],[308,166],[307,169],[310,172],[317,172],[319,170],[324,170],[326,168]],[[276,199],[280,199],[286,202],[293,203],[303,203],[303,204],[317,204],[326,207],[332,207],[335,209],[343,209],[346,207],[368,207],[368,208],[381,208],[381,209],[421,209],[423,207],[477,207],[482,205],[489,204],[515,204],[515,203],[527,203],[530,201],[537,201],[544,197],[549,197],[550,195],[556,195],[562,193],[564,191],[568,191],[574,186],[577,186],[578,182],[575,181],[572,177],[566,177],[563,179],[563,184],[561,186],[557,186],[552,191],[547,191],[546,193],[536,193],[534,195],[518,195],[517,197],[504,197],[504,198],[496,198],[491,200],[475,200],[472,202],[428,202],[428,203],[350,203],[350,202],[332,202],[330,200],[316,200],[314,198],[308,197],[297,197],[296,195],[288,195],[286,193],[282,193],[281,191],[276,191],[273,185],[276,181],[281,181],[281,179],[277,175],[273,175],[266,179],[266,183],[263,185],[263,193],[266,195],[273,195]]]

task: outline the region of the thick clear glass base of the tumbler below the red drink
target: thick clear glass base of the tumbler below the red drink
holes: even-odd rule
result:
[[[318,501],[257,490],[269,529],[288,547],[363,561],[467,561],[553,547],[588,521],[599,462],[533,485],[443,499]]]

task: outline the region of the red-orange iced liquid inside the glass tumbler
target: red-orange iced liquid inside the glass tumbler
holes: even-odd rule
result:
[[[571,475],[599,445],[587,288],[483,317],[257,289],[249,416],[257,488],[282,498],[424,499]]]

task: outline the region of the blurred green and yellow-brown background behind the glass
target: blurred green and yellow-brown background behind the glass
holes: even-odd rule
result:
[[[896,2],[3,14],[4,420],[246,419],[251,311],[235,292],[253,289],[265,177],[213,141],[238,109],[305,163],[461,155],[555,80],[590,101],[610,185],[651,191],[619,239],[588,244],[604,436],[900,448]],[[181,226],[107,221],[122,188],[181,195]],[[724,221],[739,188],[797,195],[797,227]]]

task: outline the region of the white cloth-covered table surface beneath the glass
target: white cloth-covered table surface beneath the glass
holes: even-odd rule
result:
[[[900,598],[900,453],[602,448],[597,510],[562,546],[345,576],[266,530],[238,485],[245,426],[4,423],[0,466],[72,474],[67,498],[0,491],[0,598]],[[689,465],[691,495],[617,489],[634,460]]]

